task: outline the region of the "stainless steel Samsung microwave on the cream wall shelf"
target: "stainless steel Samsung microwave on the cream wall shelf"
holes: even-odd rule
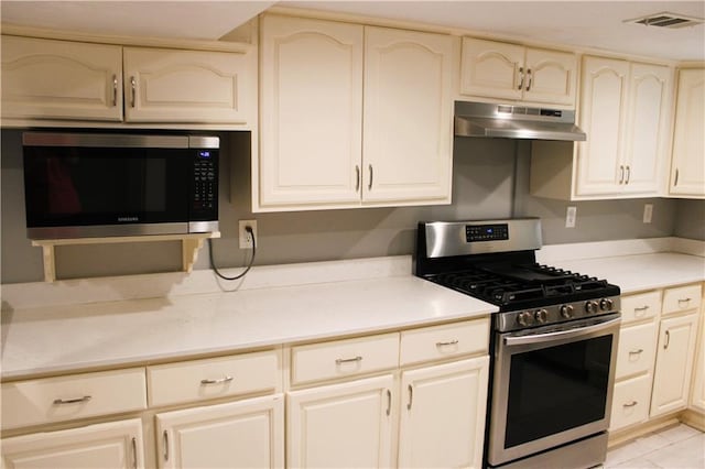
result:
[[[218,137],[22,135],[30,239],[218,230]]]

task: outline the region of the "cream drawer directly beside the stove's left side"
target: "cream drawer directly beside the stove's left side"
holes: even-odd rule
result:
[[[489,318],[401,332],[401,366],[487,352]]]

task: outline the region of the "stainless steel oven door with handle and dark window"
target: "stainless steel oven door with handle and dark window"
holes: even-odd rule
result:
[[[619,323],[614,313],[497,334],[490,465],[608,428]]]

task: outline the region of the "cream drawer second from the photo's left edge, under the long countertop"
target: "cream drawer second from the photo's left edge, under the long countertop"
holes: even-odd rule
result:
[[[278,350],[148,367],[150,405],[273,392],[280,369]]]

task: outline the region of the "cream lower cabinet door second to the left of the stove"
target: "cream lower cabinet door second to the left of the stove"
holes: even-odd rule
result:
[[[291,468],[391,465],[391,374],[293,391],[286,403]]]

